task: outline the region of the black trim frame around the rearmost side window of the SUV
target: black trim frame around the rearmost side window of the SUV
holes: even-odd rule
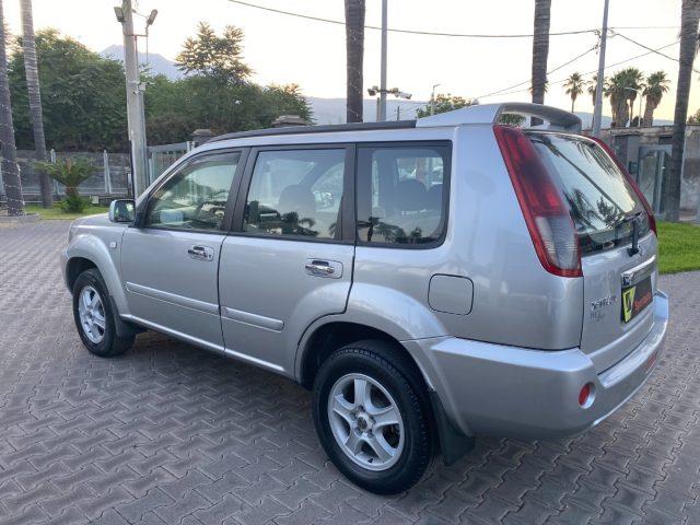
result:
[[[441,229],[440,236],[430,243],[416,243],[416,244],[402,244],[402,243],[375,243],[372,241],[362,241],[360,240],[360,234],[357,228],[357,218],[355,218],[355,238],[357,246],[370,247],[370,248],[394,248],[394,249],[433,249],[442,246],[447,236],[447,228],[450,225],[450,192],[452,187],[452,141],[451,140],[401,140],[401,141],[387,141],[387,142],[359,142],[357,144],[357,160],[355,163],[359,165],[359,155],[361,149],[407,149],[407,148],[433,148],[438,151],[444,150],[445,160],[447,162],[443,162],[443,194],[442,194],[442,207],[443,213],[440,218],[439,228]],[[357,166],[355,166],[357,167]],[[355,184],[355,202],[359,203],[359,173],[355,173],[354,184]],[[357,206],[355,206],[357,213]]]

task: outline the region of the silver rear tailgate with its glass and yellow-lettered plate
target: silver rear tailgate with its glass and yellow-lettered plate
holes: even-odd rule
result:
[[[649,334],[656,290],[656,236],[626,175],[594,141],[529,133],[569,205],[582,254],[584,318],[581,349],[602,372]],[[639,237],[638,252],[633,230]]]

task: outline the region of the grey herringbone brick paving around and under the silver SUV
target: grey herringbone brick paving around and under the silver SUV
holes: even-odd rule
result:
[[[406,494],[348,485],[310,395],[173,339],[83,349],[58,267],[68,224],[0,226],[0,523],[700,523],[700,272],[662,278],[648,386],[572,440],[479,440]]]

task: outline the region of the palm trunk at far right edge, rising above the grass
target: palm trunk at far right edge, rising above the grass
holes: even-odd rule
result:
[[[692,63],[698,42],[698,16],[700,0],[682,0],[680,7],[680,51],[678,85],[676,88],[676,110],[674,112],[674,135],[670,139],[670,165],[666,172],[664,206],[667,221],[678,221],[680,208],[680,174],[682,170],[682,150],[688,118],[688,98],[692,81]]]

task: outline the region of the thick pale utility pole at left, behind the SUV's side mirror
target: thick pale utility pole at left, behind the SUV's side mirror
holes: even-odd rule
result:
[[[133,171],[133,196],[139,197],[148,187],[148,154],[145,145],[145,116],[143,91],[139,75],[137,36],[133,32],[133,8],[131,0],[122,0],[114,8],[124,33],[124,68],[127,78],[127,120],[131,144],[131,168]]]

